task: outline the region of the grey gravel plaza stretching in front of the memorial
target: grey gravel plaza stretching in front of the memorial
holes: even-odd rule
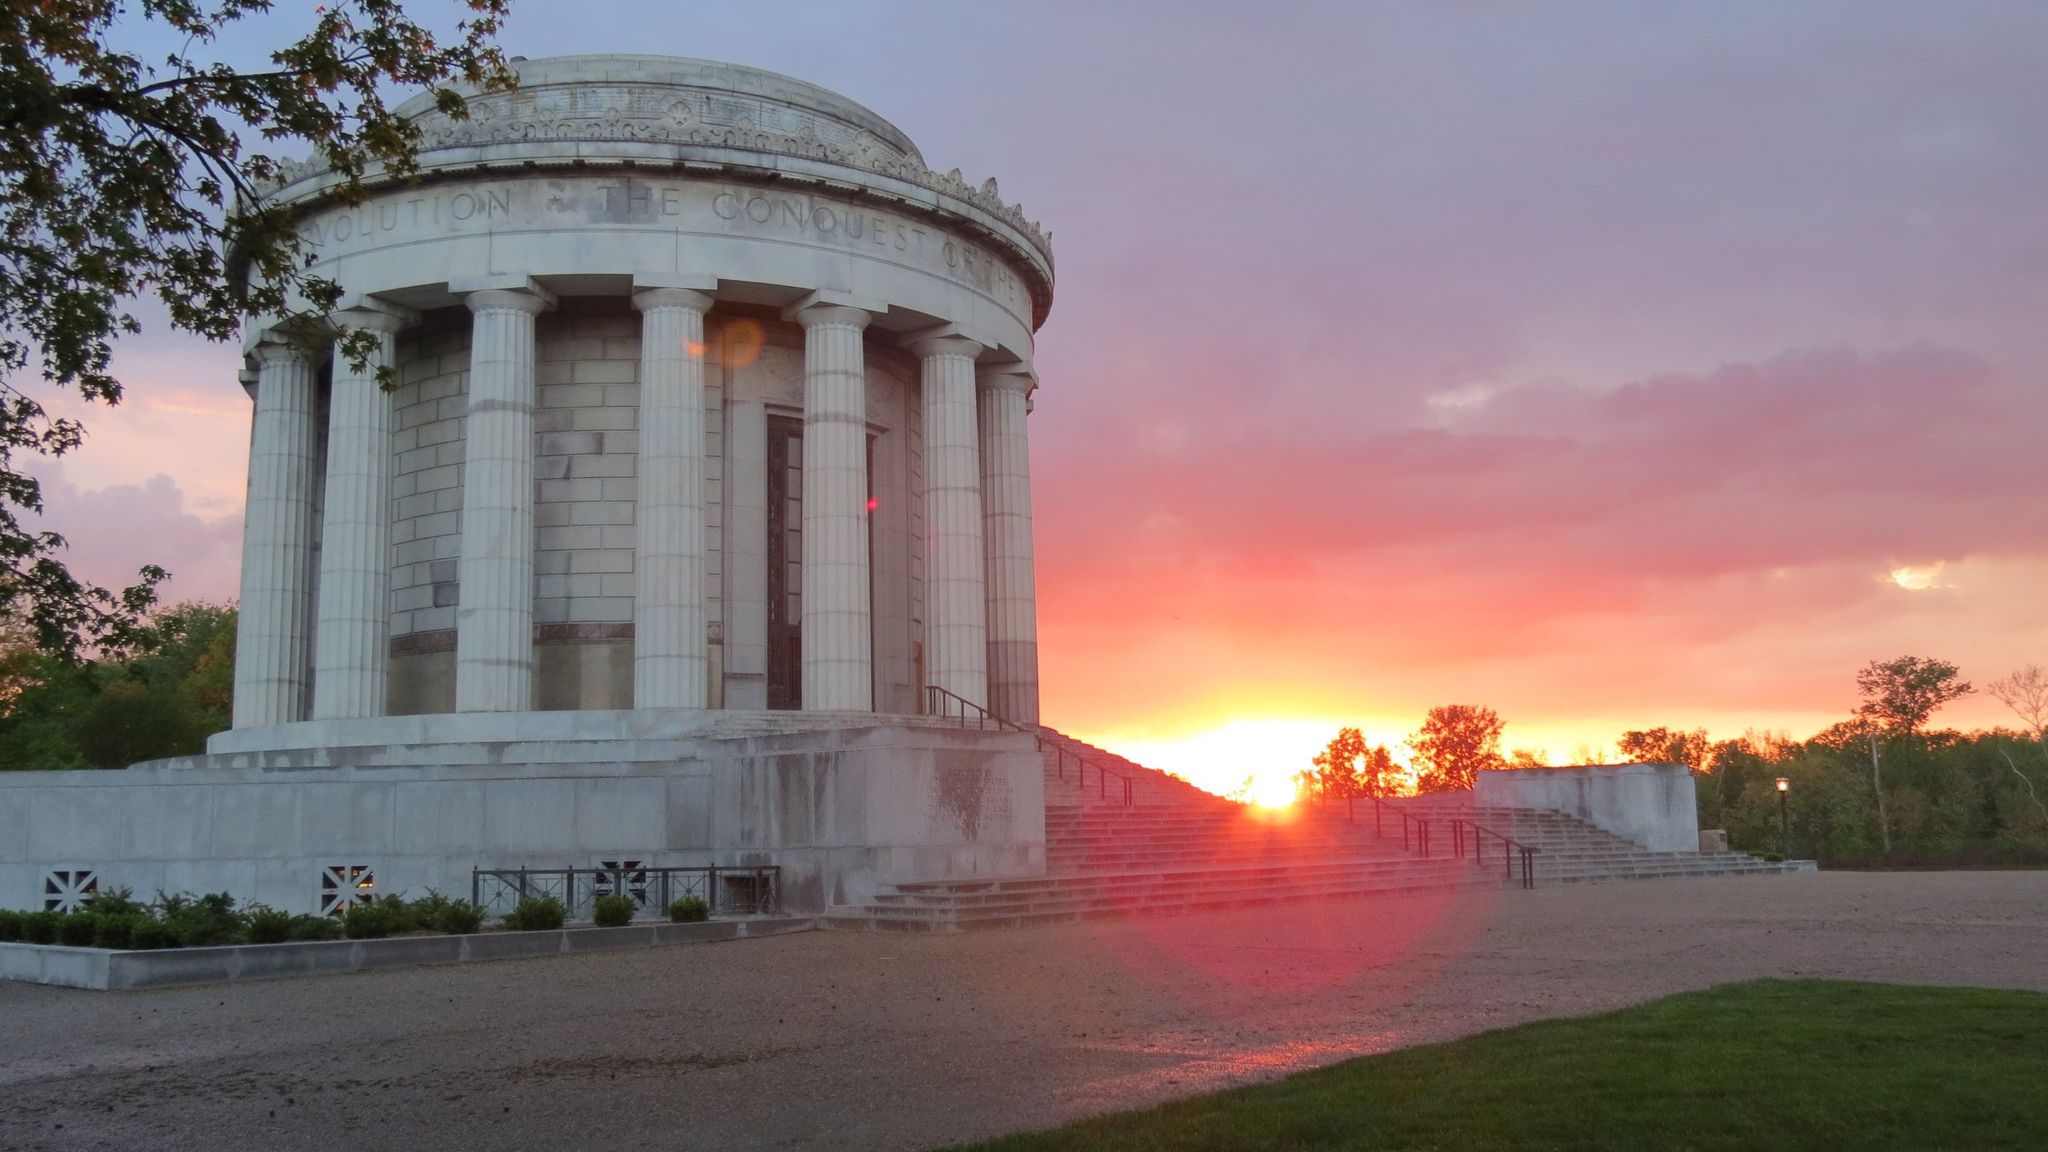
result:
[[[0,1148],[930,1148],[1759,976],[2048,990],[2044,900],[1835,871],[8,984]]]

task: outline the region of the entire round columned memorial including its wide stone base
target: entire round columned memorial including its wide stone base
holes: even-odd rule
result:
[[[1042,869],[1032,738],[956,717],[1038,717],[1049,236],[801,80],[514,68],[467,119],[406,105],[414,180],[281,172],[344,297],[246,336],[233,728],[0,781],[0,906],[639,861],[772,865],[803,910]]]

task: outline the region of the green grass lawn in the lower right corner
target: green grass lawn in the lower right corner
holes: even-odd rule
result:
[[[2048,994],[1759,980],[973,1148],[2042,1152]]]

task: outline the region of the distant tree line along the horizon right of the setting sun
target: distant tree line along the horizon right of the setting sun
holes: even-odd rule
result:
[[[1929,724],[1942,705],[1976,691],[1948,660],[1876,660],[1855,687],[1855,711],[1806,740],[1640,728],[1622,732],[1616,752],[1624,763],[1690,767],[1700,826],[1726,828],[1737,849],[1833,865],[2048,863],[2048,670],[2030,664],[1985,685],[2015,726],[1980,732]],[[1548,767],[1538,752],[1503,754],[1503,730],[1489,707],[1432,707],[1407,738],[1409,771],[1401,771],[1393,748],[1341,728],[1296,787],[1305,799],[1466,791],[1481,771]]]

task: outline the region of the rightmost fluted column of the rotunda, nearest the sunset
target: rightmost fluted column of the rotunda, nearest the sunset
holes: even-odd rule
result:
[[[1030,537],[1028,369],[981,377],[981,506],[989,551],[989,709],[1038,724],[1038,580]]]

